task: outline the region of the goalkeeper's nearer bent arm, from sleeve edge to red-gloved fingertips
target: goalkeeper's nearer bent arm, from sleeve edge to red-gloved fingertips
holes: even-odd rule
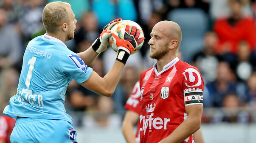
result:
[[[137,27],[133,26],[132,31],[135,32],[126,33],[123,39],[115,38],[115,43],[118,47],[116,61],[107,75],[101,78],[93,71],[88,80],[82,83],[82,86],[104,96],[110,97],[113,94],[127,59],[132,51],[134,51],[134,47],[138,44],[139,39],[136,38]],[[115,34],[112,33],[112,36],[114,35]]]

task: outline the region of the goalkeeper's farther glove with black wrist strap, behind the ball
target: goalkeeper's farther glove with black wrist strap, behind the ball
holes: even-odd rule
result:
[[[92,44],[94,51],[96,51],[97,53],[101,53],[107,49],[107,45],[110,44],[109,37],[111,36],[111,31],[109,30],[121,20],[122,19],[115,19],[103,28],[101,36],[97,38]]]

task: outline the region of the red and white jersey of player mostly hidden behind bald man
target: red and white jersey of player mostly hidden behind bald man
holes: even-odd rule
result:
[[[126,110],[131,110],[131,111],[134,111],[134,112],[140,114],[140,105],[139,105],[140,98],[141,98],[140,82],[137,81],[135,86],[132,89],[132,94],[128,98],[124,108]],[[137,143],[140,143],[140,140],[141,140],[139,123],[137,124],[135,140]]]

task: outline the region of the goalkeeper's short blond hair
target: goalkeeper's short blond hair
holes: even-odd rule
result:
[[[60,1],[45,5],[42,13],[42,22],[47,32],[56,32],[57,27],[64,22],[69,24],[68,8],[71,8],[69,3]]]

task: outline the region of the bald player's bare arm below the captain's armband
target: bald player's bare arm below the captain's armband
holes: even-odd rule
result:
[[[159,143],[180,143],[200,129],[203,105],[187,105],[188,118]]]

